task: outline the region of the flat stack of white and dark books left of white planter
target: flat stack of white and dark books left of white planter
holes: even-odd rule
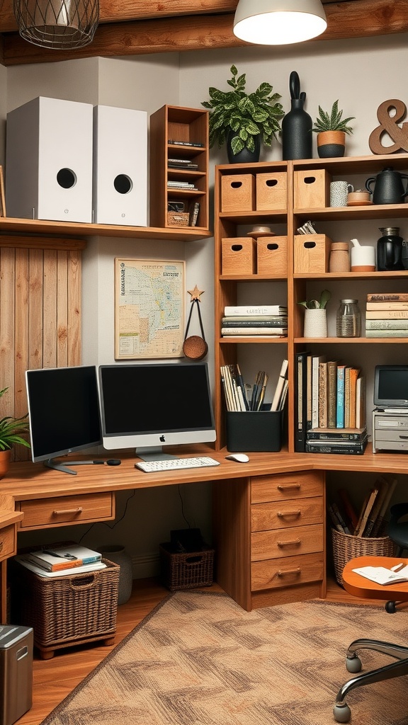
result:
[[[287,337],[287,307],[284,305],[235,305],[224,308],[221,335]]]

